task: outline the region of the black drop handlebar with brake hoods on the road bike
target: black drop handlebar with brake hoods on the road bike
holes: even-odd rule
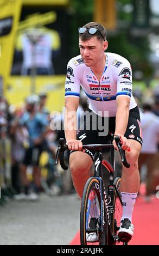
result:
[[[119,153],[120,153],[120,156],[121,156],[121,159],[122,159],[122,163],[124,164],[124,166],[126,168],[129,168],[130,167],[130,163],[128,163],[126,161],[125,151],[122,149],[122,142],[120,140],[120,137],[116,136],[115,137],[115,141],[116,141],[117,147],[119,149]],[[100,149],[100,148],[111,148],[111,147],[113,147],[113,144],[94,144],[94,145],[90,144],[90,145],[83,145],[83,149],[85,149],[85,148]],[[65,139],[60,138],[59,139],[58,150],[57,150],[57,153],[56,153],[55,164],[58,164],[58,159],[60,157],[60,165],[61,165],[62,169],[64,169],[64,170],[68,169],[68,166],[66,166],[65,161],[64,161],[64,152],[67,149],[68,149],[68,147],[65,144]]]

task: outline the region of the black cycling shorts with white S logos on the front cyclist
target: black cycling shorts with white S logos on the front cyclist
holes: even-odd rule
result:
[[[87,118],[85,118],[81,129],[77,132],[77,139],[79,141],[82,141],[82,144],[85,144],[85,145],[86,144],[106,144],[106,143],[108,143],[107,142],[108,134],[115,133],[116,117],[110,117],[110,118],[99,117],[99,115],[96,115],[91,110],[90,110],[90,113],[92,114],[92,117],[91,118],[89,117],[89,120],[87,120]],[[104,127],[104,124],[106,124],[106,126],[107,126],[107,127],[105,127],[105,130],[107,131],[106,136],[99,136],[99,132],[102,132],[102,130],[99,130],[98,125],[95,124],[97,121],[98,121],[98,123],[102,124],[103,127]],[[86,124],[88,124],[88,122],[90,123],[90,130],[87,130],[88,126]],[[94,127],[97,127],[97,129],[94,130]],[[124,136],[127,139],[134,139],[135,141],[137,141],[138,143],[140,143],[142,145],[142,129],[141,129],[141,124],[140,124],[138,107],[130,109],[128,126],[126,128],[126,132],[125,132]],[[71,153],[72,152],[74,152],[74,151],[72,150]],[[94,159],[95,150],[86,149],[85,153],[90,155],[92,157],[92,160]]]

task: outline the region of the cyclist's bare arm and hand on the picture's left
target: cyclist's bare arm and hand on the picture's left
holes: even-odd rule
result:
[[[65,98],[65,137],[69,150],[81,150],[82,142],[77,141],[77,109],[79,97]]]

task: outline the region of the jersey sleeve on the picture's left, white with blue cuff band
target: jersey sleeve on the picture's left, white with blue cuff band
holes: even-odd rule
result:
[[[77,71],[78,67],[73,64],[72,60],[69,60],[65,81],[65,97],[79,97],[80,95],[80,80]]]

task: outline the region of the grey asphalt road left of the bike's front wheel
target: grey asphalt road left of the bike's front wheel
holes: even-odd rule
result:
[[[69,245],[79,230],[80,200],[76,194],[39,202],[11,200],[0,207],[0,245]]]

